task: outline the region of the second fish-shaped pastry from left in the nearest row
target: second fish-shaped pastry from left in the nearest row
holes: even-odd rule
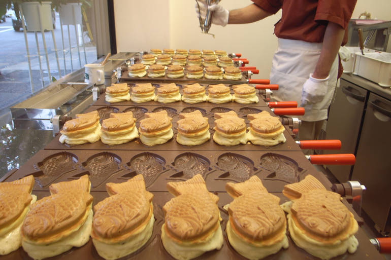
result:
[[[50,196],[30,207],[21,228],[24,251],[42,259],[85,245],[91,234],[92,196],[88,175],[51,184]]]

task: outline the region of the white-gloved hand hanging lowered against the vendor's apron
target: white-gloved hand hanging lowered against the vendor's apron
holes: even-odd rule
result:
[[[303,107],[307,104],[314,104],[322,101],[327,93],[329,79],[330,76],[327,76],[325,79],[315,79],[312,78],[311,73],[309,79],[303,85],[300,106]]]

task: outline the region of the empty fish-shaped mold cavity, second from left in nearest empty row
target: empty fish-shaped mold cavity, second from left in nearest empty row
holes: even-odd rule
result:
[[[103,152],[88,158],[82,165],[89,172],[93,187],[100,185],[110,175],[121,170],[121,158],[113,153]]]

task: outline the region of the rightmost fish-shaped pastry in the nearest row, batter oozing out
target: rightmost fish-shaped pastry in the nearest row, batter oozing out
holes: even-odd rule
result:
[[[289,234],[297,246],[326,260],[357,250],[357,221],[339,194],[327,191],[312,175],[285,185],[282,193],[293,201],[281,207],[288,213]]]

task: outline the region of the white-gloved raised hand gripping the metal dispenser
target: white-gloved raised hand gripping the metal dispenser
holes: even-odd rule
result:
[[[197,4],[198,3],[198,4]],[[213,11],[212,23],[216,25],[225,26],[228,23],[229,11],[224,9],[220,5],[211,5],[208,7],[208,4],[205,0],[197,0],[196,3],[196,13],[198,18],[201,17],[202,21],[205,21],[206,12],[209,9]],[[200,8],[199,8],[200,6]]]

